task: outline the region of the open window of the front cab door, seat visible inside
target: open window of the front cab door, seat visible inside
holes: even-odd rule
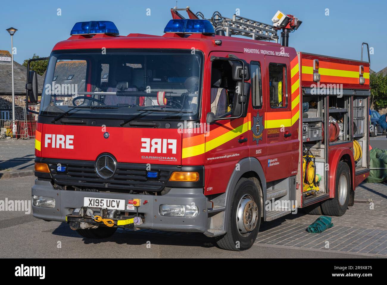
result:
[[[214,60],[211,69],[211,112],[216,118],[231,114],[236,81],[231,65],[226,60]]]

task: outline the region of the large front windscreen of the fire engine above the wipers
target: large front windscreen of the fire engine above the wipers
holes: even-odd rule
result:
[[[202,66],[202,53],[191,50],[53,52],[40,114],[197,119]]]

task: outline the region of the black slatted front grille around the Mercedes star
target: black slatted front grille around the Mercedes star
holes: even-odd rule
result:
[[[159,192],[164,189],[171,173],[178,166],[152,165],[151,171],[158,171],[159,180],[146,179],[146,164],[117,163],[115,174],[109,179],[100,178],[94,161],[43,159],[49,165],[51,176],[58,185],[84,188],[110,188],[133,191]],[[67,173],[57,173],[57,164],[67,165]]]

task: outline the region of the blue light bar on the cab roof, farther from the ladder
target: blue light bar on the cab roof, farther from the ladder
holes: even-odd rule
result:
[[[95,35],[95,34],[119,35],[116,25],[110,21],[77,22],[75,23],[70,33],[70,35]]]

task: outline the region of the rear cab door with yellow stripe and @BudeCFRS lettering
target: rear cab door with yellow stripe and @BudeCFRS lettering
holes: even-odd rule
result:
[[[290,63],[287,57],[265,56],[264,128],[267,157],[266,181],[290,176],[293,147],[291,133]]]

